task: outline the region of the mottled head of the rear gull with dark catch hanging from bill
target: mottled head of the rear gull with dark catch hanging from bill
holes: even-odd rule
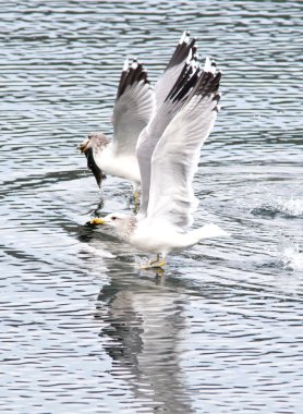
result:
[[[96,157],[98,157],[98,154],[101,153],[109,143],[109,139],[101,132],[92,132],[78,146],[81,153],[86,156],[87,167],[95,175],[98,186],[101,185],[101,181],[106,179],[106,175],[97,165]]]

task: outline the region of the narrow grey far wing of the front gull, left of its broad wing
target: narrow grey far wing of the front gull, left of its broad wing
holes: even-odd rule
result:
[[[193,62],[185,62],[179,78],[165,102],[150,119],[140,135],[136,157],[141,173],[141,206],[138,215],[146,216],[152,171],[152,156],[166,127],[178,113],[197,80],[198,68]]]

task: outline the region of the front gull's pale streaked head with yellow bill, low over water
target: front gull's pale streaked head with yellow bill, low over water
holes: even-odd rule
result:
[[[124,215],[122,212],[111,212],[106,217],[92,219],[90,224],[104,224],[111,227],[114,229],[116,234],[120,239],[129,241],[136,228],[137,219],[135,216]]]

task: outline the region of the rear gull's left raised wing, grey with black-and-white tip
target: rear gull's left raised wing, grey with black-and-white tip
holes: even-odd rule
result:
[[[134,155],[140,133],[155,108],[155,93],[142,64],[125,60],[112,113],[113,151]]]

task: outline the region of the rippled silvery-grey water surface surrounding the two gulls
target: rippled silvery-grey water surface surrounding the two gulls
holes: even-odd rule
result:
[[[2,1],[3,413],[301,413],[301,1]],[[85,226],[129,209],[76,145],[111,133],[123,59],[156,80],[184,28],[223,71],[196,226],[230,239],[140,271]],[[105,199],[102,206],[101,200]]]

